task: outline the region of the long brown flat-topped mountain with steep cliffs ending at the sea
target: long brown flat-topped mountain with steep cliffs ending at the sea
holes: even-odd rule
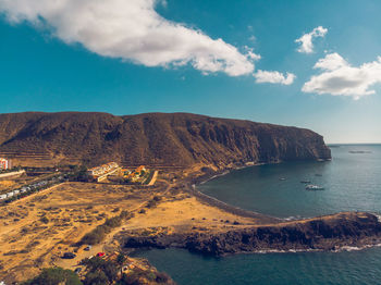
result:
[[[0,115],[0,153],[42,153],[89,165],[223,168],[231,163],[330,159],[323,138],[309,131],[187,113],[114,116],[107,113]]]

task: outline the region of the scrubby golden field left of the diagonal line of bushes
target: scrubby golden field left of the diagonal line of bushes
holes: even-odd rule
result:
[[[0,280],[30,277],[54,264],[106,218],[150,195],[127,186],[69,183],[1,207]]]

